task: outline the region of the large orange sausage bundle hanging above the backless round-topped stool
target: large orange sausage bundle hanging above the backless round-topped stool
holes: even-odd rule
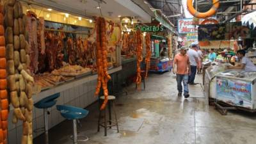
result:
[[[98,84],[96,88],[95,95],[99,95],[100,88],[102,86],[104,91],[104,102],[102,103],[102,106],[100,107],[100,110],[104,109],[106,107],[106,104],[108,103],[108,81],[111,79],[111,77],[108,75],[108,51],[106,47],[106,20],[102,17],[98,17],[96,20],[96,32],[97,32],[97,38],[96,38],[96,49],[97,49],[97,70],[98,70]]]

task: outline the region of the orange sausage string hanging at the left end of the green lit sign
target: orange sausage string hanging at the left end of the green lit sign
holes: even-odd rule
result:
[[[136,49],[137,49],[137,78],[136,83],[138,84],[137,88],[140,90],[141,83],[141,68],[140,63],[143,60],[142,58],[142,35],[140,31],[136,31]]]

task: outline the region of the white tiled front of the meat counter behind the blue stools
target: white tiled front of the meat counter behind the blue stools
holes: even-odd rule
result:
[[[122,67],[112,68],[108,71],[109,74],[122,70]],[[97,86],[97,74],[79,77],[70,82],[60,84],[49,90],[44,90],[38,95],[33,95],[34,103],[38,102],[45,97],[60,93],[60,97],[57,99],[57,104],[65,104],[77,106],[79,108],[86,108],[86,106],[95,102],[98,97],[95,97],[95,88]],[[49,108],[48,115],[49,129],[54,125],[59,124],[65,118],[57,111],[56,106]],[[20,143],[22,136],[22,122],[18,122],[16,125],[12,124],[13,107],[10,108],[8,117],[8,140],[10,144]],[[38,129],[44,126],[43,109],[33,109],[33,129]],[[33,137],[42,134],[42,132],[33,133]]]

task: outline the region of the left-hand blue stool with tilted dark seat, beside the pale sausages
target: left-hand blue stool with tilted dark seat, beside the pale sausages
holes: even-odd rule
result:
[[[60,93],[56,93],[49,97],[45,97],[44,99],[36,102],[34,106],[38,109],[44,109],[44,132],[45,132],[45,144],[49,144],[49,137],[48,137],[48,115],[49,112],[47,111],[48,108],[54,106],[57,102],[57,98],[60,97]]]

